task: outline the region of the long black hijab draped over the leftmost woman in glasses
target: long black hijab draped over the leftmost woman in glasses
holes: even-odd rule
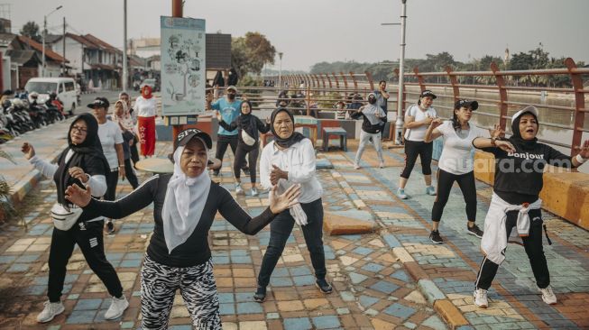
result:
[[[86,139],[80,144],[74,144],[71,142],[70,133],[74,124],[80,120],[84,121],[87,125]],[[70,150],[74,151],[74,154],[66,161],[66,155]],[[105,154],[102,151],[102,145],[100,144],[100,138],[98,137],[98,122],[94,115],[78,115],[76,120],[69,125],[68,148],[61,152],[58,158],[58,170],[53,175],[53,180],[58,189],[58,202],[61,204],[69,203],[65,199],[64,194],[66,188],[70,185],[77,184],[80,188],[85,188],[78,179],[69,176],[69,168],[72,167],[79,167],[89,175],[106,175],[106,171],[109,170],[108,162],[106,161]]]

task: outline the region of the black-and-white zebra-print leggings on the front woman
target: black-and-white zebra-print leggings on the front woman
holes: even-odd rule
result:
[[[167,329],[176,290],[184,298],[195,329],[221,329],[213,261],[192,267],[170,267],[147,254],[141,273],[143,329]]]

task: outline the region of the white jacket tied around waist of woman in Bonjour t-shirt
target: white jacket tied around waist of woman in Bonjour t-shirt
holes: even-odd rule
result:
[[[495,193],[492,194],[489,212],[484,218],[484,234],[481,240],[481,250],[490,261],[501,264],[505,260],[505,249],[507,248],[507,231],[505,222],[507,212],[520,211],[518,215],[518,234],[526,237],[529,234],[529,210],[538,209],[542,206],[542,199],[538,198],[529,205],[511,205]]]

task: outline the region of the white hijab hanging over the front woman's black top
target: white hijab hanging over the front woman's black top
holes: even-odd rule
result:
[[[203,145],[207,148],[205,142]],[[184,151],[183,146],[174,151],[174,174],[168,183],[161,213],[163,235],[166,246],[168,246],[168,253],[186,242],[194,232],[211,188],[211,179],[207,169],[197,178],[189,178],[184,174],[180,168],[182,151]]]

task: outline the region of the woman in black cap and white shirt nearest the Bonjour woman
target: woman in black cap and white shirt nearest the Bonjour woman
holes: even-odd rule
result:
[[[437,161],[437,197],[431,210],[432,230],[429,239],[433,243],[444,242],[439,234],[439,222],[442,219],[444,206],[450,196],[450,190],[454,182],[458,182],[462,196],[466,203],[466,233],[479,238],[483,237],[483,231],[474,224],[476,220],[476,187],[474,185],[474,161],[473,140],[477,137],[486,137],[488,134],[468,122],[473,111],[479,107],[479,103],[469,100],[458,100],[454,105],[452,120],[443,122],[436,118],[429,124],[424,142],[433,142],[440,136],[444,136],[444,149]]]

